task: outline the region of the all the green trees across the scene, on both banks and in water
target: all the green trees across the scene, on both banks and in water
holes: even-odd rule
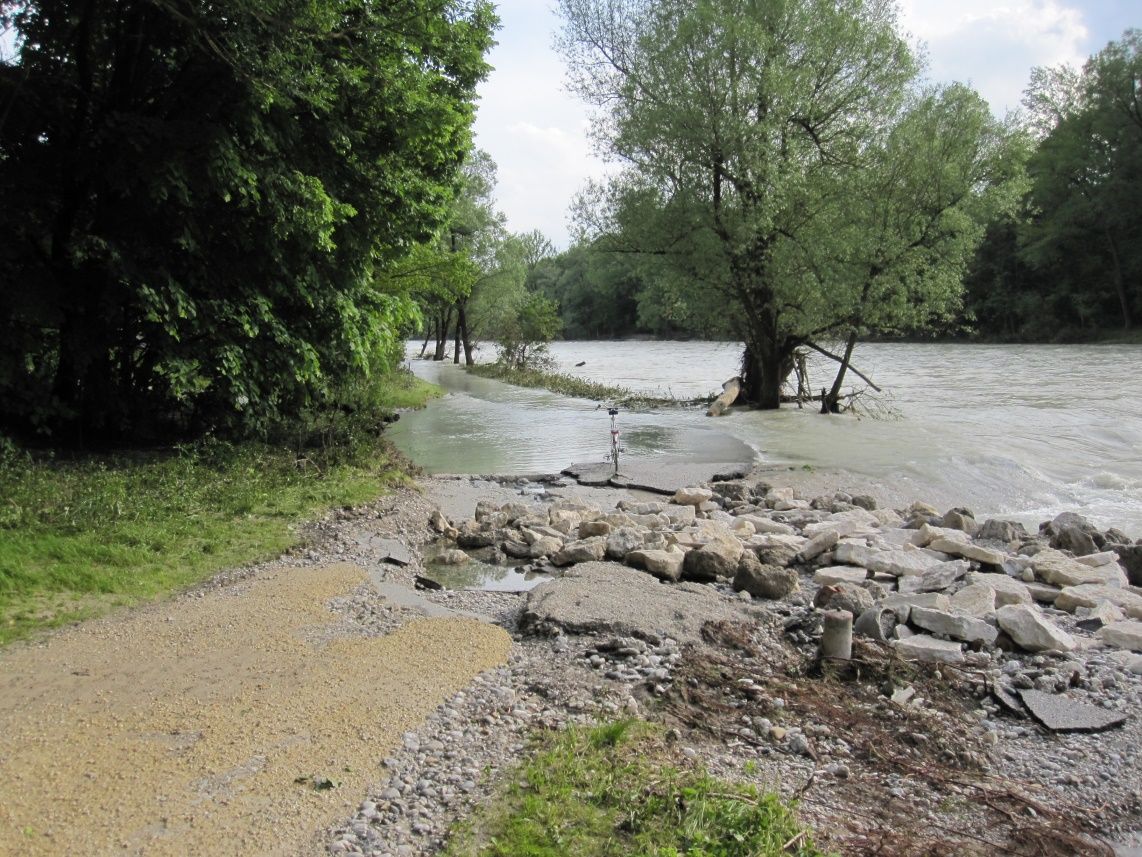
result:
[[[862,338],[1142,312],[1137,31],[1022,117],[924,83],[888,0],[561,0],[620,169],[555,254],[474,149],[485,0],[0,2],[0,431],[145,442],[357,407],[405,337],[727,337],[775,407]]]

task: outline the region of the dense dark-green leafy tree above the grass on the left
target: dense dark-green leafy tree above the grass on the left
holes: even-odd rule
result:
[[[484,0],[2,2],[2,428],[264,430],[392,365]]]

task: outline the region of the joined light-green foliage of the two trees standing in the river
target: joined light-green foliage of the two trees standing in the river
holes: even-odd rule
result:
[[[745,342],[777,407],[798,347],[949,318],[1016,194],[965,87],[918,91],[886,0],[562,0],[562,49],[626,169],[582,208],[667,318]],[[1013,183],[1014,179],[1014,183]]]

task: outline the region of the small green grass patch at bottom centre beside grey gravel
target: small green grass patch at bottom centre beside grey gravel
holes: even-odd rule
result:
[[[670,763],[641,721],[548,736],[445,857],[819,857],[777,795]]]

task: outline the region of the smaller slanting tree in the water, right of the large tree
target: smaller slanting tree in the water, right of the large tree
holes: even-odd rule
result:
[[[1027,190],[1026,142],[960,85],[918,94],[869,141],[815,239],[842,249],[818,264],[850,286],[831,290],[821,312],[839,319],[833,333],[845,337],[831,406],[862,333],[915,334],[955,318],[987,225],[1012,214]]]

